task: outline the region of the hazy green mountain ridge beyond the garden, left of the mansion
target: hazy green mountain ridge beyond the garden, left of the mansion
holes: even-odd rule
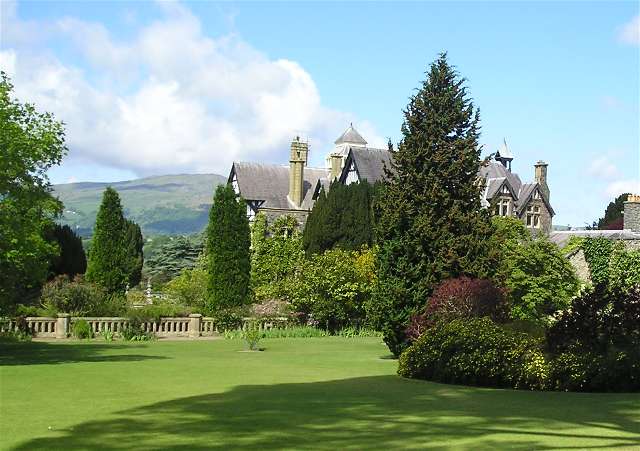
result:
[[[126,182],[65,183],[53,185],[53,191],[64,203],[60,222],[83,237],[93,232],[107,186],[118,191],[125,216],[140,224],[144,234],[189,234],[207,225],[213,191],[226,181],[217,174],[162,175]]]

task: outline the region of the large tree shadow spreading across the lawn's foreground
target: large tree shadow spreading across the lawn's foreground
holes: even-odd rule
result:
[[[372,376],[245,385],[159,402],[17,449],[634,448],[639,416],[637,394],[491,390]]]

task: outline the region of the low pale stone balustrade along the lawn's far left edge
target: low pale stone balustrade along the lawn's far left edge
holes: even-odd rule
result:
[[[114,335],[120,335],[129,325],[130,319],[125,317],[71,317],[66,313],[59,314],[57,318],[27,317],[26,326],[34,338],[68,338],[73,330],[73,324],[84,320],[89,323],[95,335],[103,331],[111,331]],[[262,330],[276,327],[286,327],[287,318],[255,319],[243,318],[240,329],[245,329],[251,321],[258,321]],[[145,332],[150,332],[160,338],[170,337],[206,337],[218,335],[215,318],[203,317],[200,314],[189,315],[186,318],[160,318],[157,321],[143,321],[141,327]],[[0,332],[18,330],[19,324],[14,319],[0,319]]]

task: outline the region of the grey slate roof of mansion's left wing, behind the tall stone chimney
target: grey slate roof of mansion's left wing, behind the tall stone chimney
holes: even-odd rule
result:
[[[235,162],[229,180],[236,175],[240,195],[246,200],[263,200],[263,208],[296,209],[289,202],[289,166],[277,164]],[[318,180],[329,176],[328,169],[304,168],[302,209],[313,206],[313,189]]]

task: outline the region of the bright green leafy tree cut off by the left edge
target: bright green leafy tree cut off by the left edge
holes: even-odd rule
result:
[[[19,103],[12,91],[0,72],[0,313],[40,288],[58,253],[44,236],[62,211],[47,171],[67,153],[63,124]]]

